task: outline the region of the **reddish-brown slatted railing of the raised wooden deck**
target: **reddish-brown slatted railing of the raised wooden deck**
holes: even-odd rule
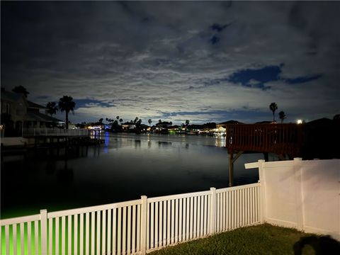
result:
[[[296,157],[302,147],[302,125],[229,124],[226,147],[232,150],[272,152]]]

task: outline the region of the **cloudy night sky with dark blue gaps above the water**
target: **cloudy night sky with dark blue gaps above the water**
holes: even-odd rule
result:
[[[340,113],[340,2],[1,1],[1,87],[74,123]],[[64,118],[60,113],[57,118]],[[278,118],[278,117],[277,117]]]

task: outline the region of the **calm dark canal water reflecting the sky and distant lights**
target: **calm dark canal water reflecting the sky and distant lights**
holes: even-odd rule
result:
[[[215,137],[109,134],[101,146],[6,156],[1,160],[1,217],[124,200],[224,188],[229,162]],[[257,182],[262,159],[244,154],[234,165],[234,185]]]

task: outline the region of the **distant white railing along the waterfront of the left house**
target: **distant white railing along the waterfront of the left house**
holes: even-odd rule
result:
[[[23,136],[89,136],[86,129],[62,129],[62,128],[26,128]]]

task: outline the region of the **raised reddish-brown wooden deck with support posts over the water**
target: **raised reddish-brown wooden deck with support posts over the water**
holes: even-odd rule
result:
[[[228,124],[229,186],[233,185],[234,162],[244,152],[277,154],[281,160],[340,158],[340,121],[317,120],[299,124]]]

